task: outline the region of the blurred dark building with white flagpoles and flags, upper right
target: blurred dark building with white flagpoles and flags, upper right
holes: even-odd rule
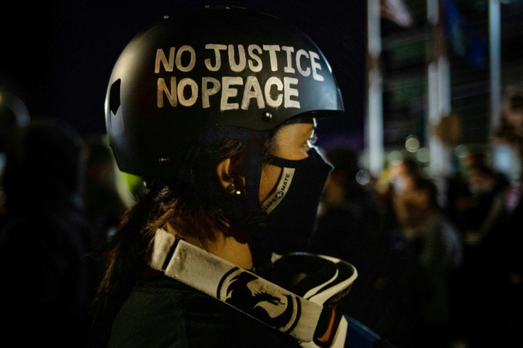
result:
[[[490,146],[490,133],[505,87],[523,81],[523,1],[369,0],[368,12],[367,165],[379,151],[374,172],[411,152],[446,175],[466,148],[483,146],[517,176],[519,163]]]

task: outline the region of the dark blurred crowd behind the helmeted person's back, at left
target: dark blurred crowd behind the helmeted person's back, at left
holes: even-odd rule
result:
[[[11,127],[0,143],[5,342],[96,347],[94,251],[128,206],[112,153],[102,136],[83,138],[59,119],[3,124]]]

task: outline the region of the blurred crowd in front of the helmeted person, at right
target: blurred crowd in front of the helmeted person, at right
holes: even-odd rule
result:
[[[357,267],[350,315],[397,347],[521,347],[519,181],[470,152],[445,185],[409,156],[361,185],[354,152],[325,156],[310,251]]]

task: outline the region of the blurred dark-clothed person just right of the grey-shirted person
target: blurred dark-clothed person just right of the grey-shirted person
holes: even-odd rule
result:
[[[499,301],[503,296],[500,283],[508,184],[482,160],[468,165],[465,185],[467,195],[455,205],[464,251],[455,276],[455,322],[469,347],[485,347],[501,342],[495,332],[502,330],[502,320],[485,317],[503,315]]]

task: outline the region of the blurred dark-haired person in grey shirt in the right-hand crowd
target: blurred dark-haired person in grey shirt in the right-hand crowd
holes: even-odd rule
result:
[[[429,178],[399,175],[394,187],[399,233],[393,248],[403,254],[413,290],[419,290],[419,347],[451,347],[453,343],[453,276],[463,261],[458,229],[438,204],[438,188]],[[406,289],[408,293],[409,290]],[[418,330],[419,329],[419,330]],[[399,344],[401,345],[401,344]]]

